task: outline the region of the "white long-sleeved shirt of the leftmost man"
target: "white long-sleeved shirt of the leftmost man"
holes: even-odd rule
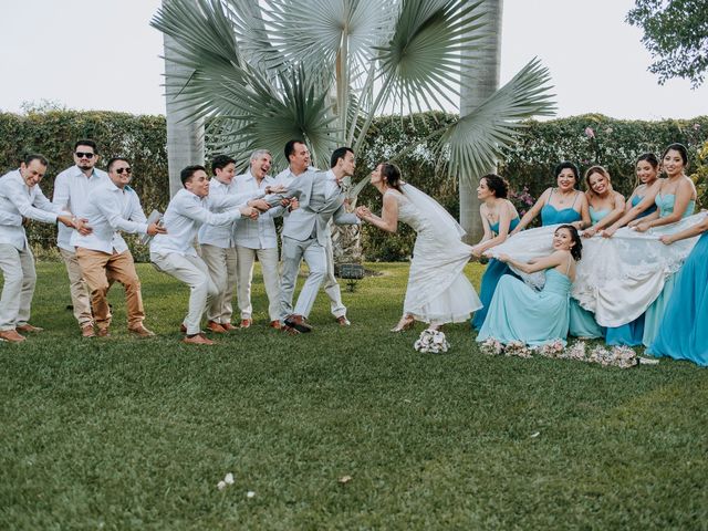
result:
[[[19,169],[8,171],[0,177],[0,212],[6,219],[14,219],[13,216],[20,217],[20,225],[0,225],[0,243],[23,250],[27,246],[27,235],[22,218],[55,223],[56,215],[61,211],[59,206],[44,197],[40,185],[31,188],[27,186]]]

